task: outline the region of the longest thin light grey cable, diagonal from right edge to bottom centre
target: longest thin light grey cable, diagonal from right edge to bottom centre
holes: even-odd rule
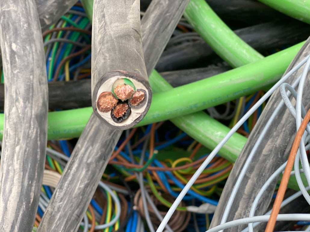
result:
[[[241,127],[243,122],[245,122],[250,115],[254,113],[255,110],[258,109],[258,107],[267,100],[268,97],[282,84],[284,83],[295,71],[297,71],[309,58],[307,56],[304,58],[299,64],[297,64],[295,67],[293,67],[286,75],[282,77],[268,92],[261,98],[255,105],[237,122],[237,124],[228,132],[228,134],[219,142],[219,144],[214,148],[214,150],[210,153],[210,155],[206,158],[206,160],[201,164],[201,166],[197,169],[195,174],[193,174],[192,178],[188,181],[188,183],[185,185],[185,187],[180,192],[179,196],[176,198],[175,202],[172,204],[170,209],[168,210],[166,216],[164,217],[162,223],[159,225],[157,232],[162,232],[165,228],[166,224],[168,223],[170,217],[174,213],[176,207],[179,205],[185,194],[188,192],[190,187],[192,187],[193,183],[196,181],[196,179],[199,177],[199,175],[202,173],[202,171],[206,168],[206,166],[210,163],[210,161],[215,157],[215,155],[219,152],[219,150],[224,146],[224,144],[227,142],[227,140]]]

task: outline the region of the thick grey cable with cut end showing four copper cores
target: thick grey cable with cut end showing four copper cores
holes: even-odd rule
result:
[[[139,10],[139,0],[94,1],[92,107],[115,130],[138,124],[151,105]]]

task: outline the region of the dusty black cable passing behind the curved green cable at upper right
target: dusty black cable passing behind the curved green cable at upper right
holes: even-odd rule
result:
[[[310,25],[295,19],[259,24],[234,31],[243,41],[260,53],[270,52],[302,42],[310,34]],[[186,33],[184,33],[186,34]],[[206,42],[192,41],[166,49],[155,69],[159,72],[206,67],[220,61]]]

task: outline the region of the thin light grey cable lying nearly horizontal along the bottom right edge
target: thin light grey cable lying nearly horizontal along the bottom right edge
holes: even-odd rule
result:
[[[245,217],[237,219],[234,221],[226,222],[222,225],[215,226],[208,230],[207,232],[218,232],[225,230],[234,226],[240,226],[243,224],[249,224],[254,222],[268,221],[270,215],[255,216],[255,217]],[[277,221],[310,221],[310,214],[308,213],[288,213],[288,214],[278,214]]]

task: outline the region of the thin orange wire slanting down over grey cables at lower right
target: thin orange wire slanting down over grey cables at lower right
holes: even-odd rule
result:
[[[272,211],[271,211],[271,215],[270,215],[269,221],[267,223],[265,232],[272,232],[274,229],[274,226],[276,224],[277,216],[279,214],[281,203],[283,201],[284,194],[286,191],[287,183],[288,183],[289,178],[290,178],[290,172],[292,171],[292,168],[294,165],[294,160],[295,160],[297,150],[299,148],[300,140],[302,139],[303,132],[305,131],[309,120],[310,120],[310,109],[308,110],[308,112],[307,112],[305,118],[303,119],[303,122],[301,123],[301,125],[297,131],[297,134],[295,136],[295,140],[294,140],[292,149],[290,151],[290,156],[288,158],[288,161],[287,161],[287,164],[286,164],[286,167],[284,170],[284,174],[283,174],[282,179],[281,179],[280,187],[278,189],[276,200],[274,201]]]

